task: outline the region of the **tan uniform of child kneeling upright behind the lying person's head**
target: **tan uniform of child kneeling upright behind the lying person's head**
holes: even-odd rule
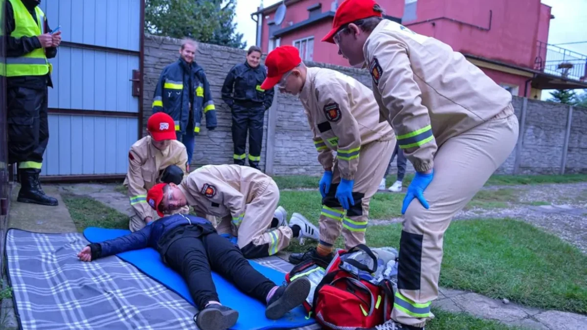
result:
[[[183,143],[170,140],[166,150],[159,150],[150,136],[143,137],[135,142],[129,151],[129,170],[126,173],[123,185],[129,189],[130,205],[134,214],[129,221],[130,231],[143,228],[144,218],[151,217],[157,220],[157,212],[147,204],[147,191],[160,183],[161,174],[170,165],[177,165],[187,173],[187,151]],[[176,213],[187,214],[190,207],[186,206]]]

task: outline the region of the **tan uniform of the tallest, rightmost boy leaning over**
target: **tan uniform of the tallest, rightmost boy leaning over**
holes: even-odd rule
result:
[[[512,96],[434,38],[384,19],[363,48],[373,92],[417,171],[434,169],[404,215],[392,319],[423,327],[438,297],[443,235],[518,139]],[[408,56],[409,55],[409,56]]]

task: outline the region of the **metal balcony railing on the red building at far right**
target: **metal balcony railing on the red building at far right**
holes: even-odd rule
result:
[[[565,79],[587,80],[587,56],[538,41],[534,69]]]

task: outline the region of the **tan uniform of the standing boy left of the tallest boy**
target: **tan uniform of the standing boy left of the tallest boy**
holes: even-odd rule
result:
[[[379,122],[371,90],[335,70],[308,68],[299,99],[314,135],[318,161],[325,170],[332,169],[332,184],[322,201],[320,241],[332,246],[342,227],[347,249],[365,244],[369,201],[392,156],[393,130]],[[355,180],[355,205],[346,214],[335,197],[341,177]]]

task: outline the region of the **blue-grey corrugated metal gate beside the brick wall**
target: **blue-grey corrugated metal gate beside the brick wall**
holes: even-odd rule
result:
[[[62,31],[58,55],[49,60],[54,87],[41,175],[124,175],[142,126],[144,0],[52,0],[41,9]]]

